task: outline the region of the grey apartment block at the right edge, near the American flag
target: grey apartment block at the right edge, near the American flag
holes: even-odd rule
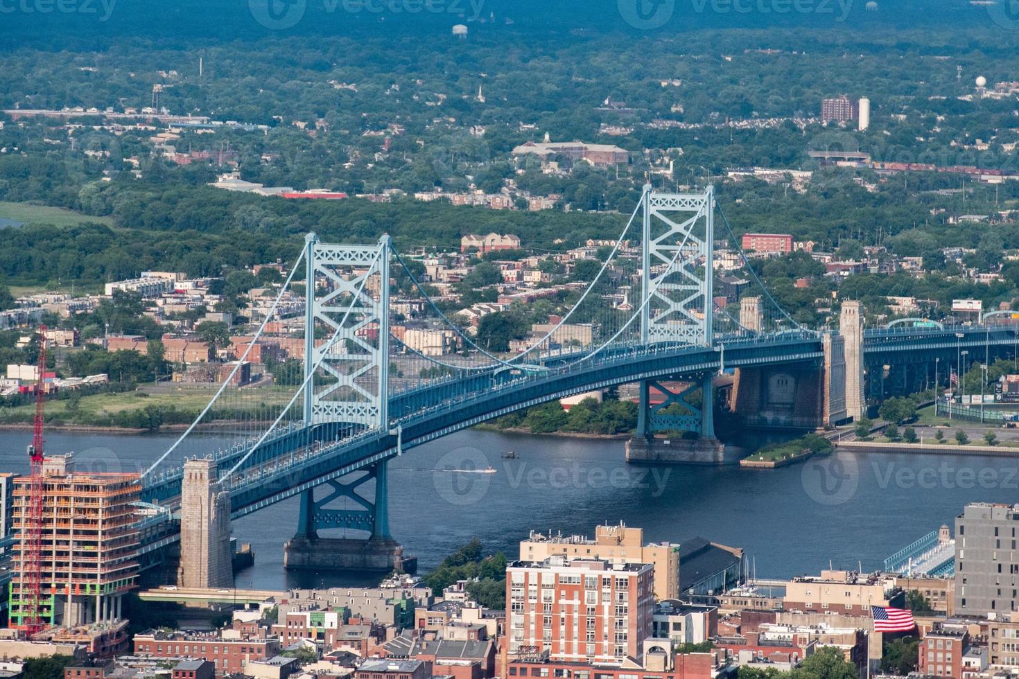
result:
[[[956,517],[956,614],[1004,616],[1019,602],[1019,505],[973,503]]]

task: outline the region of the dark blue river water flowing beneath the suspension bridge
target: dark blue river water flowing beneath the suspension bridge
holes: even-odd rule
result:
[[[31,434],[0,432],[0,470],[26,472]],[[172,436],[50,434],[51,454],[75,451],[81,468],[138,471]],[[214,440],[210,439],[210,448]],[[636,466],[623,441],[467,431],[390,463],[393,536],[425,572],[472,536],[513,559],[531,529],[592,534],[599,522],[641,526],[648,541],[700,535],[744,548],[760,577],[837,568],[870,570],[953,518],[967,502],[1019,501],[1019,460],[947,455],[850,454],[774,470],[739,466]],[[514,450],[518,459],[503,459]],[[449,471],[493,467],[494,473]],[[335,573],[285,573],[282,546],[297,498],[233,522],[255,566],[238,587],[359,583]]]

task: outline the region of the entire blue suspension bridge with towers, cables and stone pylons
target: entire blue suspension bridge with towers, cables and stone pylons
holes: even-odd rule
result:
[[[739,295],[716,294],[721,249],[740,258]],[[745,423],[813,429],[860,417],[868,398],[947,382],[963,352],[989,360],[1017,346],[1002,319],[864,329],[857,302],[843,303],[838,329],[802,326],[749,266],[710,187],[645,187],[592,281],[524,299],[525,312],[557,318],[516,352],[494,350],[450,318],[427,263],[405,258],[388,236],[330,244],[309,234],[288,269],[208,405],[143,474],[143,566],[179,543],[180,586],[228,584],[230,519],[294,496],[289,566],[398,567],[387,461],[553,399],[638,384],[629,459],[718,462],[718,376],[735,376],[727,402]],[[282,310],[293,294],[305,298],[303,319]],[[437,329],[442,346],[412,341],[412,326]],[[238,388],[249,353],[281,336],[303,359],[281,363],[290,370],[271,385]],[[662,431],[691,434],[663,450],[653,437]],[[326,528],[367,539],[320,537]]]

